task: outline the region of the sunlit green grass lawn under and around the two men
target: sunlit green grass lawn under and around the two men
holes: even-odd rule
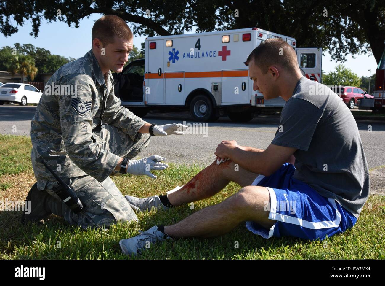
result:
[[[24,200],[35,182],[30,163],[28,136],[0,135],[0,200]],[[170,164],[155,172],[157,180],[144,176],[111,177],[123,195],[165,193],[187,183],[202,167]],[[127,259],[119,240],[136,236],[153,225],[175,223],[192,212],[221,202],[239,190],[230,183],[216,196],[167,212],[138,214],[139,222],[118,223],[110,229],[87,229],[68,225],[49,216],[43,226],[20,224],[21,212],[0,212],[2,259]],[[236,248],[235,243],[239,247]],[[60,246],[60,247],[59,247]],[[296,238],[263,239],[241,223],[230,233],[213,239],[174,239],[152,245],[135,259],[385,259],[385,197],[370,196],[357,224],[343,234],[324,241]]]

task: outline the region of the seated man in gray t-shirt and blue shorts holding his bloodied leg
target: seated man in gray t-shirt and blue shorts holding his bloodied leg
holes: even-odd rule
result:
[[[214,153],[218,160],[179,190],[146,199],[126,196],[136,211],[167,210],[207,199],[230,181],[242,187],[176,224],[122,239],[123,253],[135,255],[147,241],[169,237],[219,236],[243,221],[266,239],[308,240],[323,240],[357,222],[369,195],[369,170],[348,107],[330,88],[301,74],[295,50],[281,39],[265,40],[245,64],[254,91],[265,100],[286,101],[273,141],[266,150],[222,141]]]

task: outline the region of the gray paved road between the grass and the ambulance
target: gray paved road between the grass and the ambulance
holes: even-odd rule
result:
[[[29,136],[35,109],[36,106],[0,106],[0,133]],[[144,120],[156,124],[183,121],[194,123],[187,112],[149,113]],[[233,123],[227,117],[222,117],[215,123],[208,123],[207,128],[202,128],[201,131],[207,132],[205,134],[152,137],[150,146],[144,150],[143,155],[157,154],[166,157],[168,162],[207,165],[213,162],[214,151],[221,140],[236,140],[239,145],[265,149],[273,140],[278,125],[278,116],[254,118],[248,123]],[[357,125],[369,167],[385,165],[385,123],[358,121]],[[368,132],[368,125],[372,126],[372,132]],[[13,132],[14,126],[16,132]],[[192,130],[189,128],[187,132]]]

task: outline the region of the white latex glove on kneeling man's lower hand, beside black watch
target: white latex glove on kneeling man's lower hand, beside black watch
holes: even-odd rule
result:
[[[158,155],[152,155],[138,160],[129,160],[127,164],[127,173],[139,176],[147,175],[156,179],[156,175],[152,174],[150,170],[164,170],[168,167],[168,165],[154,160],[166,161],[166,158]]]

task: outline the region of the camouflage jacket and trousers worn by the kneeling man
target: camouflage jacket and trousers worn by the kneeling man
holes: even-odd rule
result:
[[[32,166],[41,194],[35,195],[41,202],[35,215],[54,213],[82,227],[137,220],[109,175],[119,173],[114,169],[121,157],[138,155],[150,135],[138,132],[146,121],[121,106],[114,84],[110,70],[102,74],[92,49],[60,67],[48,81],[30,131]],[[163,133],[169,135],[167,130]],[[75,214],[54,193],[58,182],[39,158],[74,189],[82,212]],[[23,222],[32,220],[25,218]]]

